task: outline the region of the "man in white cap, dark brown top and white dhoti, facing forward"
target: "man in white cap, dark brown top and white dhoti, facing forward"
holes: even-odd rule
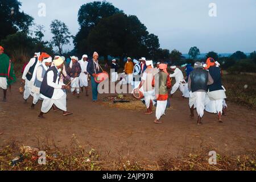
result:
[[[75,95],[77,93],[77,97],[80,97],[80,85],[79,85],[79,76],[81,74],[81,66],[77,61],[77,57],[72,57],[72,64],[69,66],[67,72],[71,77],[71,92]]]

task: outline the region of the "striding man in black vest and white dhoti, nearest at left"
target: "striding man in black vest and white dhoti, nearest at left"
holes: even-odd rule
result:
[[[61,58],[54,60],[54,66],[49,68],[44,75],[40,87],[40,97],[43,98],[43,104],[38,118],[44,118],[43,114],[48,113],[53,105],[63,110],[63,116],[72,114],[67,111],[67,95],[64,92],[64,89],[67,89],[68,86],[59,82],[61,69],[63,69],[64,65],[63,62]]]

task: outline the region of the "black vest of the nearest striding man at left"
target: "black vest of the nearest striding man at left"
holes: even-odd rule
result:
[[[49,71],[53,71],[53,73],[54,73],[53,82],[56,82],[56,80],[57,80],[58,71],[57,71],[56,67],[49,68],[46,72],[46,75],[44,75],[42,85],[40,87],[40,93],[43,94],[44,96],[48,97],[48,98],[52,98],[54,88],[47,84],[47,75],[48,75]],[[59,83],[59,81],[60,80],[58,80],[58,83]]]

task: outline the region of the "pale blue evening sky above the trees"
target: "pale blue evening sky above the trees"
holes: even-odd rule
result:
[[[77,14],[82,0],[19,0],[21,10],[46,28],[45,40],[51,40],[53,19],[67,24],[72,35],[79,31]],[[197,46],[201,53],[233,53],[256,50],[256,0],[109,0],[128,15],[136,15],[148,32],[159,38],[160,47],[188,53]],[[46,16],[39,16],[38,5],[46,5]],[[210,3],[216,9],[209,7]],[[213,11],[216,10],[216,11]],[[209,16],[209,11],[212,15]],[[216,12],[216,14],[214,14]],[[66,51],[73,44],[65,46]]]

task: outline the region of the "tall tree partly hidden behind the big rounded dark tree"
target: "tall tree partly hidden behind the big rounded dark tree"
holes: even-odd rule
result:
[[[86,44],[88,35],[100,20],[117,13],[122,13],[122,11],[106,1],[94,1],[82,5],[78,13],[80,30],[73,40],[77,53],[83,54],[89,50],[90,46]]]

